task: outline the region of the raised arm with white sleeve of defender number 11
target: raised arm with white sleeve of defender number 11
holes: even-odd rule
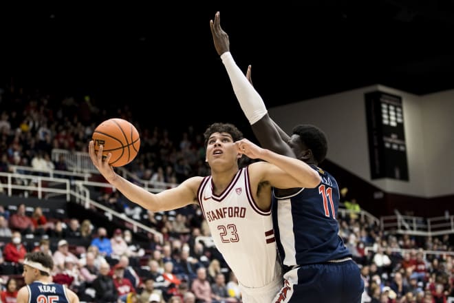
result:
[[[252,131],[257,140],[259,140],[262,147],[278,154],[295,157],[292,149],[287,144],[289,136],[272,121],[263,99],[244,73],[241,72],[232,54],[230,54],[230,41],[228,34],[221,28],[219,12],[215,14],[214,21],[210,20],[210,28],[217,54],[221,56],[222,63],[224,63],[232,83],[233,91],[246,118],[252,125]]]

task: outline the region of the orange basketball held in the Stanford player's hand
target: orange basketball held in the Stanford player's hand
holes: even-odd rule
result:
[[[111,153],[109,164],[114,167],[127,165],[136,158],[140,147],[140,136],[136,127],[129,121],[111,118],[96,127],[91,138],[98,153],[103,145],[102,158]]]

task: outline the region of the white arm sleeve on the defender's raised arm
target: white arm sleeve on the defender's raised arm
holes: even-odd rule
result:
[[[227,74],[232,83],[233,92],[237,96],[241,109],[243,109],[251,125],[256,123],[267,113],[265,103],[263,103],[259,93],[250,84],[243,72],[241,72],[230,52],[221,54],[221,60],[226,67]]]

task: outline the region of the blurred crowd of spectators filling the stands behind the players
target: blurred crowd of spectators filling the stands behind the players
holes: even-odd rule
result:
[[[1,92],[0,171],[11,171],[11,165],[66,170],[62,159],[51,159],[52,149],[86,151],[94,127],[119,117],[134,123],[140,132],[140,153],[127,165],[138,178],[179,183],[209,174],[202,132],[193,127],[173,134],[147,125],[148,121],[136,121],[127,105],[108,112],[88,96],[57,99],[13,83]],[[147,242],[138,242],[130,229],[111,230],[102,222],[84,219],[83,214],[56,218],[41,207],[27,211],[25,198],[15,208],[2,202],[1,302],[15,302],[23,285],[23,258],[34,250],[52,255],[54,282],[66,284],[83,302],[241,302],[235,275],[210,242],[197,206],[136,212],[117,191],[102,191],[97,201],[159,231],[163,241],[149,235]],[[352,212],[339,216],[339,236],[361,267],[363,302],[438,303],[454,297],[454,250],[449,235],[384,233],[376,221],[358,216],[360,207],[354,197],[344,197],[343,203]],[[34,240],[27,241],[30,238]]]

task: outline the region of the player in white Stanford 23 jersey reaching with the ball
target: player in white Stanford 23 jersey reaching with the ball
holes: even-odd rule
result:
[[[89,143],[89,155],[102,176],[126,198],[151,211],[169,211],[198,203],[211,236],[237,276],[244,303],[267,303],[283,286],[271,218],[271,188],[315,187],[321,181],[303,161],[281,156],[242,139],[228,123],[214,123],[204,133],[211,176],[188,178],[158,194],[122,178],[102,161]],[[240,169],[246,155],[261,159]]]

